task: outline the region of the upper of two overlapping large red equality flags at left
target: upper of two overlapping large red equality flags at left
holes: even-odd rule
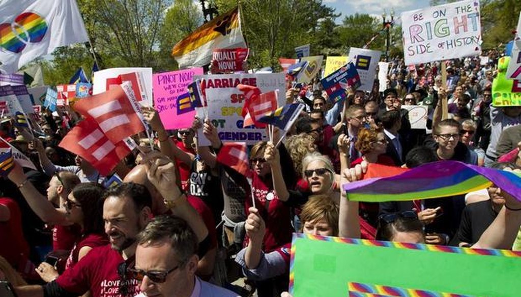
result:
[[[113,143],[145,130],[141,107],[129,82],[82,99],[74,105],[74,109],[84,117],[93,119]]]

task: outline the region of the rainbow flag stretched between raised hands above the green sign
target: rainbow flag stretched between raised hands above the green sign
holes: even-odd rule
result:
[[[395,167],[369,164],[368,171],[387,172]],[[521,201],[521,176],[510,171],[457,161],[427,163],[390,177],[375,177],[344,184],[352,201],[411,201],[466,194],[497,185]]]

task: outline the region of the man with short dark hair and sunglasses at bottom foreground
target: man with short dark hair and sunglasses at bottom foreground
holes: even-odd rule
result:
[[[139,297],[238,297],[201,280],[197,270],[197,237],[182,219],[159,216],[138,235],[135,268],[128,269],[141,281]]]

